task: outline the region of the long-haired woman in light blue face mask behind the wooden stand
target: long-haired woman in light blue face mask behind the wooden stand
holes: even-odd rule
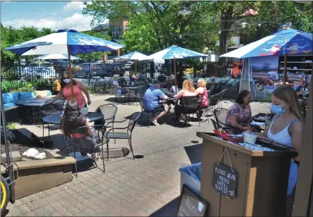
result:
[[[302,147],[302,132],[304,118],[300,109],[297,94],[290,85],[282,85],[272,93],[272,113],[275,116],[264,132],[259,133],[260,137],[267,137],[270,140],[279,142],[288,147],[293,147],[298,156],[291,160],[288,178],[287,201],[292,201],[294,188],[298,178],[298,163]],[[290,214],[293,206],[287,206],[287,213]],[[291,210],[290,210],[291,209]]]

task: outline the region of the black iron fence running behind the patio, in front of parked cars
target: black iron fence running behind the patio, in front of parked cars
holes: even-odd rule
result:
[[[176,61],[177,74],[184,79],[195,77],[239,77],[242,70],[241,61],[233,61],[223,65],[218,62],[189,62],[188,60]],[[37,80],[56,80],[68,64],[59,63],[5,63],[1,62],[1,79],[24,80],[36,82]],[[72,65],[73,77],[89,87],[99,80],[110,80],[113,75],[128,77],[131,73],[143,73],[153,79],[160,73],[174,74],[173,61],[166,60],[162,63],[155,61],[115,61],[110,63],[74,63]]]

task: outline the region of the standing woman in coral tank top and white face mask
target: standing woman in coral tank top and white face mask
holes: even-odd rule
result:
[[[87,97],[87,103],[90,105],[91,100],[87,88],[81,82],[73,80],[74,98],[80,108],[87,106],[82,91]],[[58,95],[56,95],[56,97],[54,97],[53,101],[51,101],[51,104],[53,104],[54,101],[56,101],[62,96],[64,96],[66,100],[72,101],[72,90],[70,88],[70,78],[68,76],[68,72],[63,73],[60,92],[58,93]]]

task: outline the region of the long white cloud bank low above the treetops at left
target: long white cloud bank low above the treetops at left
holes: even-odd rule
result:
[[[39,29],[44,27],[51,28],[52,30],[60,30],[64,28],[84,31],[91,30],[92,16],[85,16],[80,13],[74,13],[72,16],[64,19],[56,18],[42,18],[42,19],[23,19],[16,18],[15,20],[10,20],[2,23],[4,26],[12,25],[13,27],[21,27],[23,25],[30,27],[34,26]]]

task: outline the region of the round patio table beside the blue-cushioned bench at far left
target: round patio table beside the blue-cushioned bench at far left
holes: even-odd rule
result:
[[[15,105],[25,108],[26,114],[23,115],[25,123],[36,124],[39,123],[38,109],[44,105],[44,102],[51,98],[32,98],[20,101],[15,101]]]

